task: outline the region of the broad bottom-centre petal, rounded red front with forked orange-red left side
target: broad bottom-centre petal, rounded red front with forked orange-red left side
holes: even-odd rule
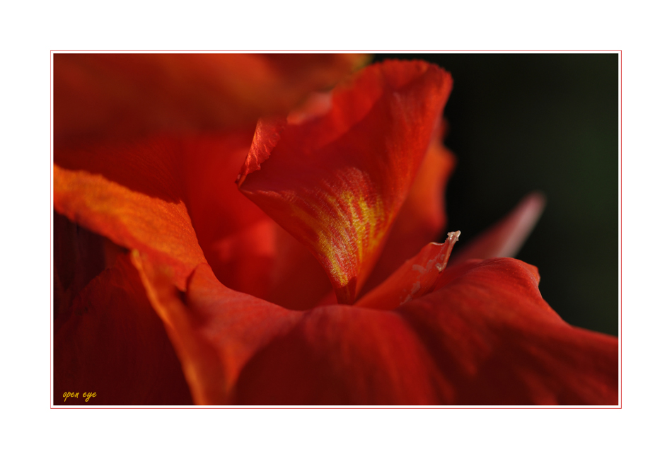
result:
[[[438,400],[429,355],[394,313],[289,311],[227,289],[207,265],[190,279],[185,305],[160,269],[142,255],[133,260],[199,404]]]

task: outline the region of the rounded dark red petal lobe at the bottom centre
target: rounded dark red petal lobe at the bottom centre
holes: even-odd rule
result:
[[[446,383],[422,341],[391,311],[306,311],[241,372],[241,405],[436,405]]]

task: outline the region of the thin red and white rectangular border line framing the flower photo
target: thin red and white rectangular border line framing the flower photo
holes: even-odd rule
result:
[[[581,52],[581,54],[587,54],[589,52],[618,52],[620,56],[620,228],[621,228],[621,237],[620,237],[620,327],[619,327],[619,335],[618,335],[618,344],[620,348],[620,404],[618,406],[589,406],[589,407],[581,407],[581,406],[573,406],[573,407],[562,407],[562,406],[542,406],[542,407],[536,407],[536,406],[529,406],[529,407],[516,407],[516,406],[510,406],[510,407],[497,407],[497,406],[488,406],[488,407],[456,407],[456,406],[446,406],[446,407],[441,407],[441,406],[432,406],[432,407],[425,407],[422,405],[419,406],[414,406],[414,407],[373,407],[377,409],[546,409],[546,408],[552,408],[552,409],[622,409],[622,379],[623,379],[623,356],[622,356],[622,333],[623,333],[623,324],[622,324],[622,306],[623,306],[623,285],[622,285],[622,277],[623,277],[623,240],[622,240],[622,226],[623,226],[623,216],[622,216],[622,211],[623,211],[623,190],[622,190],[622,182],[623,182],[623,151],[622,151],[622,144],[623,144],[623,116],[622,116],[622,109],[623,109],[623,84],[622,84],[622,78],[623,78],[623,50],[555,50],[555,51],[548,51],[548,50],[444,50],[444,51],[383,51],[383,52],[399,52],[403,54],[413,54],[413,53],[419,53],[419,52],[427,52],[427,53],[441,53],[441,52],[477,52],[479,54],[485,54],[486,52],[504,52],[506,54],[512,54],[514,52]],[[52,124],[53,124],[53,88],[52,88],[52,81],[53,81],[53,71],[54,71],[54,62],[53,62],[53,55],[54,53],[57,52],[87,52],[87,51],[64,51],[64,50],[50,50],[50,86],[49,86],[49,95],[50,95],[50,112],[49,112],[49,133],[50,133],[50,156],[51,156],[51,162],[53,165],[54,158],[53,158],[53,129],[52,129]],[[90,51],[89,51],[90,52]],[[113,52],[123,52],[120,50],[117,51],[112,51],[108,50],[105,51],[105,53],[113,53]],[[128,52],[128,51],[126,51]],[[138,51],[135,50],[134,52],[141,53],[141,52],[156,52],[156,51]],[[161,51],[161,52],[177,52],[177,51]],[[187,54],[188,52],[197,52],[197,51],[180,51],[180,54]],[[217,51],[200,51],[200,52],[217,52]],[[220,51],[221,52],[221,51]],[[263,51],[226,51],[226,52],[263,52]],[[277,52],[277,51],[276,51]],[[282,51],[282,52],[297,52],[297,51]],[[311,52],[311,51],[306,51],[303,50],[303,52]],[[314,52],[314,51],[313,51]],[[339,51],[329,51],[329,52],[339,52]],[[362,53],[369,53],[369,52],[376,52],[376,51],[340,51],[340,52],[362,52]],[[380,52],[380,51],[378,51]],[[49,175],[49,182],[50,182],[50,204],[52,204],[52,209],[53,209],[53,199],[52,199],[52,194],[53,194],[53,167],[50,169],[50,175]],[[52,266],[51,266],[51,273],[50,273],[50,279],[49,279],[49,284],[50,284],[50,311],[49,311],[49,317],[50,317],[50,329],[49,329],[49,337],[50,337],[50,409],[371,409],[372,407],[236,407],[236,406],[222,406],[222,407],[203,407],[203,406],[187,406],[187,407],[147,407],[147,406],[137,406],[137,407],[97,407],[95,405],[91,405],[90,407],[82,406],[82,405],[76,405],[76,406],[65,406],[65,405],[54,405],[53,404],[53,397],[54,397],[54,391],[53,391],[53,362],[52,362],[52,350],[53,350],[53,337],[52,337],[52,331],[53,331],[53,317],[52,317],[52,304],[53,304],[53,257],[52,257],[52,227],[53,227],[53,212],[50,212],[49,215],[49,221],[50,221],[50,236],[49,236],[49,247],[50,247],[50,257],[52,258]]]

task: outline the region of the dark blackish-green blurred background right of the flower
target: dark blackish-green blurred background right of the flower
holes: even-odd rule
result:
[[[618,335],[618,54],[381,54],[453,75],[448,229],[467,243],[526,193],[547,206],[518,258],[572,325]]]

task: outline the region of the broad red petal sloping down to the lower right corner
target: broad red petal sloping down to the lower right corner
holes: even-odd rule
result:
[[[485,260],[399,309],[453,388],[445,402],[618,404],[618,339],[564,323],[538,281],[518,260]]]

